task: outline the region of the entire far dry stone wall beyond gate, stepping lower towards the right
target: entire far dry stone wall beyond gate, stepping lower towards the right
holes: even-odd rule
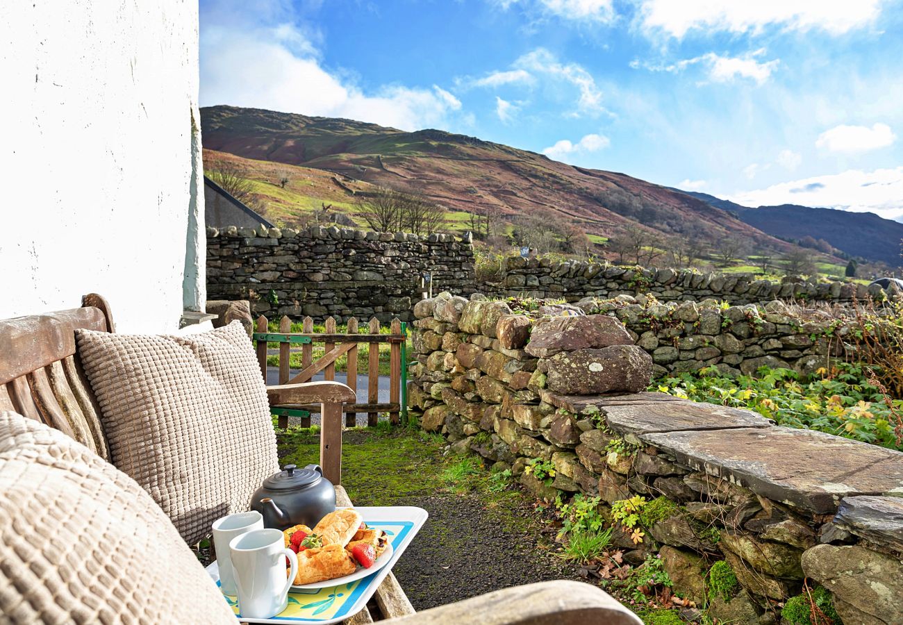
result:
[[[318,321],[329,315],[410,319],[424,272],[433,276],[437,293],[479,291],[493,297],[530,296],[572,303],[622,294],[652,295],[662,302],[713,298],[730,304],[775,299],[844,303],[854,297],[884,296],[875,286],[840,282],[775,283],[749,274],[700,274],[521,257],[507,258],[499,281],[480,282],[469,237],[420,238],[404,232],[334,226],[209,228],[207,267],[211,299],[248,299],[254,313],[303,314]]]

